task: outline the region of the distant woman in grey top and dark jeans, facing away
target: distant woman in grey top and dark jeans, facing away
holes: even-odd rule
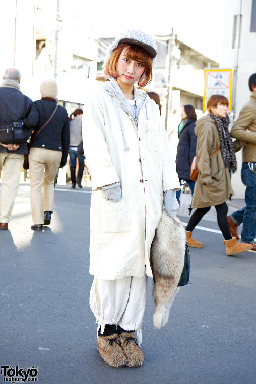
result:
[[[84,160],[86,159],[82,154],[78,152],[78,145],[82,141],[82,114],[83,110],[77,108],[69,117],[70,125],[70,144],[69,144],[69,156],[70,156],[70,174],[72,187],[76,187],[76,183],[79,188],[82,188],[82,175],[84,171]],[[78,159],[78,173],[76,178],[76,159]]]

